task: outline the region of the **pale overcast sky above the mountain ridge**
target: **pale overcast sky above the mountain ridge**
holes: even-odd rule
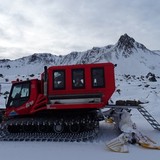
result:
[[[0,0],[0,59],[85,51],[124,33],[160,50],[160,0]]]

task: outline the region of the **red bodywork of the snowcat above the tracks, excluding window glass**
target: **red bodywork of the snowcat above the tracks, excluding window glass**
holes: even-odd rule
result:
[[[104,85],[101,87],[93,87],[94,78],[91,72],[96,68],[104,71]],[[77,69],[83,71],[84,86],[81,88],[73,87],[73,70]],[[54,73],[57,71],[65,73],[65,84],[60,89],[54,88]],[[114,65],[112,63],[52,66],[47,69],[47,75],[47,96],[44,95],[44,73],[42,73],[41,80],[15,82],[15,85],[30,83],[29,97],[20,106],[7,107],[6,116],[30,115],[43,110],[100,109],[108,103],[115,91]]]

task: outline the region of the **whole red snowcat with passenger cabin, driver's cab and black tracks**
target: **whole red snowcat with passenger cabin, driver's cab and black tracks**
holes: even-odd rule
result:
[[[99,110],[114,91],[112,63],[44,67],[41,80],[13,82],[1,137],[51,141],[92,138],[99,127]]]

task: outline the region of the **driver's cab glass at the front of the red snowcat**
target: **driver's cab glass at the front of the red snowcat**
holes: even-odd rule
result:
[[[19,107],[29,99],[30,83],[15,83],[12,86],[7,107]]]

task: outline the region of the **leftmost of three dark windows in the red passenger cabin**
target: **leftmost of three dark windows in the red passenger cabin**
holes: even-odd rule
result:
[[[64,70],[56,70],[53,72],[53,89],[65,89]]]

